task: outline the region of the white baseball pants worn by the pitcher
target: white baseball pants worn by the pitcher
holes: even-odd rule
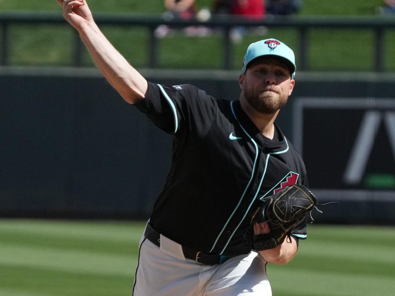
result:
[[[160,235],[160,248],[140,241],[133,296],[272,296],[266,260],[256,252],[217,265],[185,259],[178,243]]]

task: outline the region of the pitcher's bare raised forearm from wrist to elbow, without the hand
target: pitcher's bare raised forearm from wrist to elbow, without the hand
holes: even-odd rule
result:
[[[143,99],[146,79],[123,58],[97,25],[91,21],[78,31],[97,67],[122,98],[130,104]]]

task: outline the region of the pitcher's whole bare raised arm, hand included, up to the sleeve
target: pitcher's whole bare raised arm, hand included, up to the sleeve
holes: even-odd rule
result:
[[[97,67],[122,98],[134,104],[144,99],[147,80],[136,71],[103,35],[86,0],[57,0],[63,17],[79,32]]]

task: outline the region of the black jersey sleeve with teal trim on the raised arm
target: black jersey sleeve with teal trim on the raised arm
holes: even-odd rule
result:
[[[204,135],[217,111],[214,98],[190,85],[148,83],[145,99],[134,105],[169,134]]]

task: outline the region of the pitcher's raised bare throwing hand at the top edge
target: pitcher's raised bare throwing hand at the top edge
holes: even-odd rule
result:
[[[56,0],[63,8],[63,17],[77,30],[83,29],[93,21],[86,0]]]

